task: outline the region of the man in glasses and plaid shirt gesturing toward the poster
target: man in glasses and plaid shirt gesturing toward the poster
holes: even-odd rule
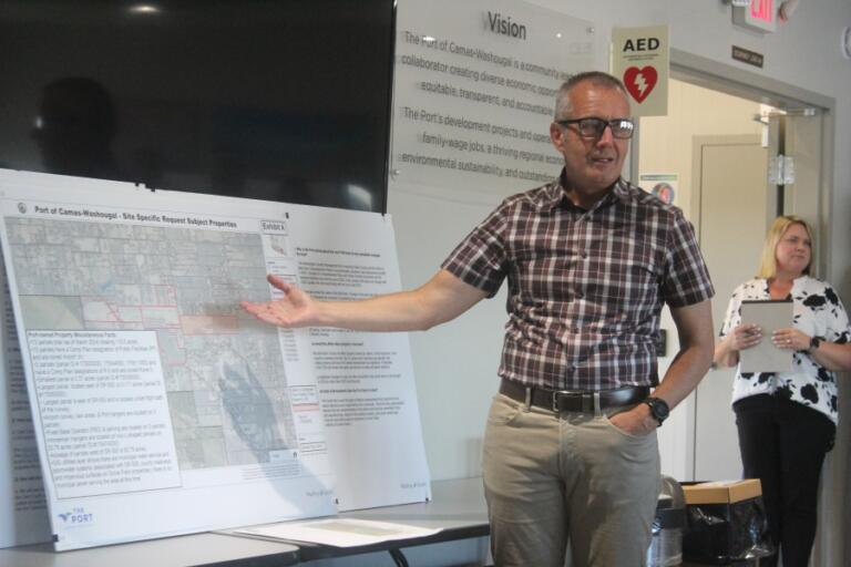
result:
[[[277,301],[244,303],[283,327],[424,330],[509,281],[509,322],[484,435],[491,548],[500,566],[646,561],[659,492],[656,427],[709,368],[714,290],[683,213],[621,178],[633,135],[623,84],[574,75],[550,127],[557,179],[505,199],[426,285],[316,301],[276,278]],[[679,352],[658,380],[670,308]],[[653,395],[650,388],[656,386]]]

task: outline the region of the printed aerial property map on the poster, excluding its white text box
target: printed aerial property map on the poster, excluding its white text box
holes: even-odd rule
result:
[[[156,333],[181,470],[274,465],[297,446],[260,236],[7,218],[28,330]]]

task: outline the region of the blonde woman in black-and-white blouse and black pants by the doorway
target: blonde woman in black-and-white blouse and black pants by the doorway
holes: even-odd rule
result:
[[[806,567],[816,535],[819,475],[838,420],[834,372],[851,369],[851,328],[839,296],[810,276],[812,230],[779,217],[766,235],[755,279],[732,293],[715,362],[739,363],[739,352],[770,340],[790,351],[791,372],[736,372],[732,408],[746,478],[762,482],[771,537],[785,567]],[[763,336],[741,323],[744,300],[792,301],[792,324]],[[776,565],[777,557],[760,565]]]

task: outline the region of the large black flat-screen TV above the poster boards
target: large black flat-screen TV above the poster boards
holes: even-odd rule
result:
[[[0,167],[386,212],[393,0],[0,0]]]

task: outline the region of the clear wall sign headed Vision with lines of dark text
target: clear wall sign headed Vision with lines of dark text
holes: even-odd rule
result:
[[[399,3],[393,183],[511,194],[564,165],[555,95],[594,69],[594,27],[517,0]]]

